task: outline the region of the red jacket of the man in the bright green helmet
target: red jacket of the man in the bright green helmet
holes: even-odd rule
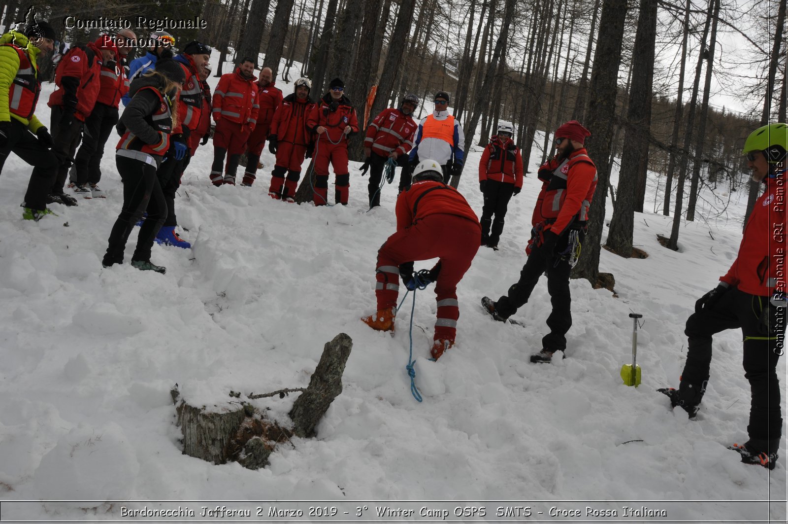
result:
[[[786,291],[786,172],[765,178],[766,191],[747,219],[736,260],[720,277],[745,293],[766,297]]]

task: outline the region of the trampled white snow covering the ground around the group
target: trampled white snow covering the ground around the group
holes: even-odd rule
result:
[[[285,95],[292,92],[288,84],[281,87]],[[45,86],[42,101],[51,88]],[[42,108],[39,117],[46,121],[48,113]],[[266,168],[254,187],[215,188],[208,178],[212,148],[201,147],[177,198],[183,236],[193,249],[154,245],[152,260],[167,274],[137,271],[128,265],[132,234],[127,264],[103,269],[122,200],[115,140],[102,163],[107,198],[80,200],[77,208],[55,204],[58,216],[39,223],[20,219],[30,168],[12,155],[0,178],[4,521],[125,522],[121,507],[143,507],[105,500],[472,501],[447,507],[485,506],[486,520],[500,520],[500,504],[485,501],[541,500],[522,503],[537,509],[515,518],[541,522],[560,519],[548,516],[549,507],[594,506],[560,501],[618,500],[632,502],[596,505],[618,507],[617,522],[626,520],[624,505],[667,512],[630,522],[786,521],[785,439],[771,472],[743,465],[726,449],[747,438],[749,385],[738,331],[715,339],[712,378],[696,420],[671,411],[655,391],[678,384],[686,318],[734,259],[744,193],[731,204],[727,222],[682,226],[679,253],[656,241],[656,234],[669,234],[671,219],[636,215],[635,244],[649,258],[624,260],[603,250],[600,270],[615,275],[618,298],[572,281],[567,359],[533,365],[529,356],[541,349],[549,310],[545,281],[515,316],[526,328],[496,323],[479,305],[484,295],[503,294],[525,261],[539,189],[533,175],[526,178],[511,201],[500,251],[481,248],[459,285],[457,344],[440,361],[427,360],[433,289],[416,296],[419,403],[405,370],[411,295],[393,338],[359,321],[375,309],[376,253],[395,229],[396,184],[383,189],[381,208],[366,212],[367,179],[355,164],[348,207],[284,204],[266,194],[273,155],[263,153]],[[539,156],[532,155],[530,170]],[[468,155],[459,189],[481,215],[479,157],[478,148]],[[333,191],[329,195],[333,201]],[[653,199],[652,193],[646,200]],[[630,362],[632,312],[643,314],[637,388],[619,377]],[[174,384],[184,397],[204,403],[225,402],[230,390],[305,387],[323,344],[340,332],[354,346],[344,391],[317,438],[294,439],[258,471],[181,454],[169,396]],[[786,362],[779,363],[783,414]],[[256,402],[281,414],[295,398]],[[10,503],[19,500],[32,502]],[[725,503],[745,500],[753,502]],[[217,503],[181,505],[194,507],[199,519],[199,507]],[[424,505],[406,519],[418,519]]]

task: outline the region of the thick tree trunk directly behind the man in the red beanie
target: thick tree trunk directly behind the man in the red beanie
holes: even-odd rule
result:
[[[593,204],[589,212],[585,246],[573,271],[574,278],[588,279],[592,286],[597,286],[599,279],[599,252],[610,180],[608,159],[615,122],[615,95],[618,92],[625,19],[626,0],[602,2],[597,51],[594,54],[589,88],[589,109],[585,118],[585,127],[592,133],[585,141],[585,146],[591,158],[597,163],[597,189],[594,191]]]

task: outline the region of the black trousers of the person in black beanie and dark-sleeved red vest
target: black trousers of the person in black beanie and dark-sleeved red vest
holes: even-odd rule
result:
[[[122,156],[116,156],[115,159],[117,172],[123,182],[123,208],[110,232],[110,241],[103,260],[106,266],[123,262],[128,235],[146,211],[147,219],[143,220],[139,228],[132,260],[151,260],[154,238],[167,217],[167,205],[156,176],[156,167]]]

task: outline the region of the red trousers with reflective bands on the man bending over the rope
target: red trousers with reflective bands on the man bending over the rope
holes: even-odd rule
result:
[[[377,309],[396,307],[400,290],[400,264],[440,258],[435,283],[437,320],[434,339],[454,340],[459,307],[457,283],[470,268],[481,244],[481,227],[457,215],[427,215],[397,231],[377,252],[375,296]]]

